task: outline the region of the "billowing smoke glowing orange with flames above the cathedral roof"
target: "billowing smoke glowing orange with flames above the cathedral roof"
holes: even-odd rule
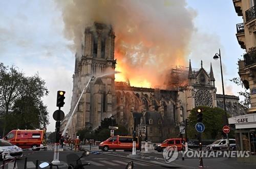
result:
[[[65,23],[65,35],[79,51],[83,32],[93,22],[111,24],[115,31],[116,80],[131,85],[162,85],[165,71],[188,65],[186,55],[195,31],[195,11],[185,0],[73,0],[57,1]]]

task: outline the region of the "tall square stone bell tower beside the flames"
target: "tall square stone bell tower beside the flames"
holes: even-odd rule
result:
[[[111,25],[94,23],[86,27],[82,55],[75,70],[77,77],[76,98],[88,83],[91,76],[97,77],[90,82],[77,109],[77,129],[95,129],[101,120],[111,117],[115,103],[114,59],[115,34]],[[73,90],[74,92],[74,90]]]

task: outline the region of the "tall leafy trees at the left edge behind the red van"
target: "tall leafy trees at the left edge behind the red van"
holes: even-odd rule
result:
[[[25,76],[18,68],[0,63],[0,129],[3,136],[12,129],[36,129],[49,123],[45,80],[37,74]]]

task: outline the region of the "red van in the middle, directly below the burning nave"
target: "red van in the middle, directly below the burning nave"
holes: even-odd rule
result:
[[[138,137],[136,137],[136,150],[139,149]],[[99,144],[99,149],[103,151],[109,150],[132,150],[133,137],[114,135]]]

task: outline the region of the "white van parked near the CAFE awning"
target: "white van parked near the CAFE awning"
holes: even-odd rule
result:
[[[236,150],[236,139],[229,138],[230,150]],[[206,150],[227,150],[227,139],[218,139],[211,145],[206,147]]]

